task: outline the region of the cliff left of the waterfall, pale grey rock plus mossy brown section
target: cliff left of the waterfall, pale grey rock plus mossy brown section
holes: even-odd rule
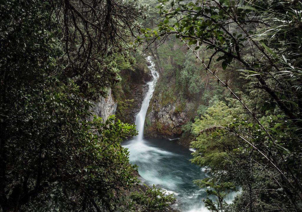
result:
[[[123,80],[108,89],[107,97],[92,102],[92,111],[104,121],[116,115],[122,122],[133,124],[148,91],[146,82],[152,80],[151,71],[146,63],[140,63],[133,69],[121,70],[120,75]]]

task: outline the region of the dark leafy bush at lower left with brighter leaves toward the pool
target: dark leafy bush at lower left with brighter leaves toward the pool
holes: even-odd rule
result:
[[[41,92],[9,125],[2,210],[113,211],[120,190],[137,182],[119,144],[134,126],[87,121],[91,105],[73,84]]]

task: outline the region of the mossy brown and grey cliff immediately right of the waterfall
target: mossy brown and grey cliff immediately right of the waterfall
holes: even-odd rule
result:
[[[188,146],[192,139],[188,126],[196,116],[202,95],[184,95],[183,88],[177,87],[177,74],[182,70],[181,61],[174,63],[168,58],[168,62],[160,62],[159,57],[153,57],[156,58],[156,69],[161,71],[146,114],[145,135],[180,138],[178,143]]]

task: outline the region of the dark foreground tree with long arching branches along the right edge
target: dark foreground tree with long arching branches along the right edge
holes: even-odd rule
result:
[[[224,125],[214,137],[227,135],[241,139],[239,151],[253,152],[248,156],[253,163],[274,176],[271,186],[277,194],[266,200],[259,194],[257,204],[265,201],[265,207],[275,207],[272,210],[300,211],[302,40],[297,11],[301,9],[301,2],[172,1],[169,7],[167,1],[161,3],[159,32],[147,30],[147,40],[165,40],[169,35],[180,38],[204,68],[242,104],[250,116]],[[196,52],[202,45],[214,50],[207,64]],[[256,99],[260,101],[257,104],[262,104],[261,109],[250,109],[246,102],[253,101],[252,95],[245,93],[246,99],[242,98],[231,89],[228,80],[223,81],[215,74],[211,65],[216,55],[223,69],[236,67],[249,76],[254,90],[268,97]],[[259,178],[256,180],[259,183]],[[252,211],[252,200],[249,205]]]

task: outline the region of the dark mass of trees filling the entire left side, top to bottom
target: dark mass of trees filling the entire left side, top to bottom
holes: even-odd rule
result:
[[[114,211],[137,182],[120,146],[134,126],[93,118],[87,99],[119,80],[109,60],[139,14],[133,1],[0,3],[4,212]]]

